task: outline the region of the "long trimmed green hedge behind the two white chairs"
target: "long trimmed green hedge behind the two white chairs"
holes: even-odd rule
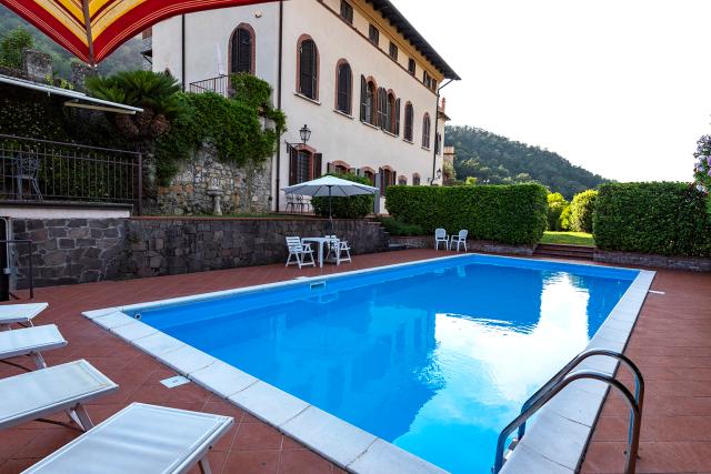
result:
[[[548,201],[540,184],[474,186],[390,186],[388,212],[425,233],[444,228],[509,244],[534,244],[545,231]]]

